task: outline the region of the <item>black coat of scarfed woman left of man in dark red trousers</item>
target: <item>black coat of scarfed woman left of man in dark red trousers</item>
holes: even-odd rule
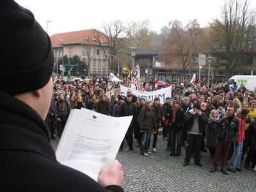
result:
[[[205,128],[206,147],[215,150],[215,141],[218,138],[218,121],[214,122],[211,118]]]

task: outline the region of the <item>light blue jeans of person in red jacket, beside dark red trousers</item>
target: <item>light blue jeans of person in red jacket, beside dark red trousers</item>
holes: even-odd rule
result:
[[[240,168],[240,161],[241,161],[242,152],[243,152],[243,143],[244,143],[243,141],[244,140],[241,140],[240,144],[238,144],[237,141],[234,142],[234,153],[228,165],[228,168],[232,170],[235,170],[235,168]]]

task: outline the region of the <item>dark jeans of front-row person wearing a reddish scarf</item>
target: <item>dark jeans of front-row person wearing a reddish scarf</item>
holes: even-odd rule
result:
[[[182,130],[171,130],[171,153],[181,154]]]

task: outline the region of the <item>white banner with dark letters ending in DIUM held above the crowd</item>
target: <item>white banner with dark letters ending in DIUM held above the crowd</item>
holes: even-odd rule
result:
[[[121,85],[121,95],[124,95],[126,97],[128,89],[129,88]],[[161,104],[164,103],[166,97],[172,97],[172,86],[168,86],[166,88],[156,90],[154,92],[140,92],[138,90],[131,90],[133,95],[145,99],[150,99],[152,101],[154,101],[155,97],[159,97]]]

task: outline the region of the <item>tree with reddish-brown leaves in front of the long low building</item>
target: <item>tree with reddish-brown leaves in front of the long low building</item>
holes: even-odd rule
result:
[[[170,35],[163,40],[161,57],[167,63],[180,63],[184,76],[186,68],[191,65],[191,57],[204,49],[204,29],[200,28],[197,20],[189,21],[185,27],[179,20],[173,20],[169,27]]]

